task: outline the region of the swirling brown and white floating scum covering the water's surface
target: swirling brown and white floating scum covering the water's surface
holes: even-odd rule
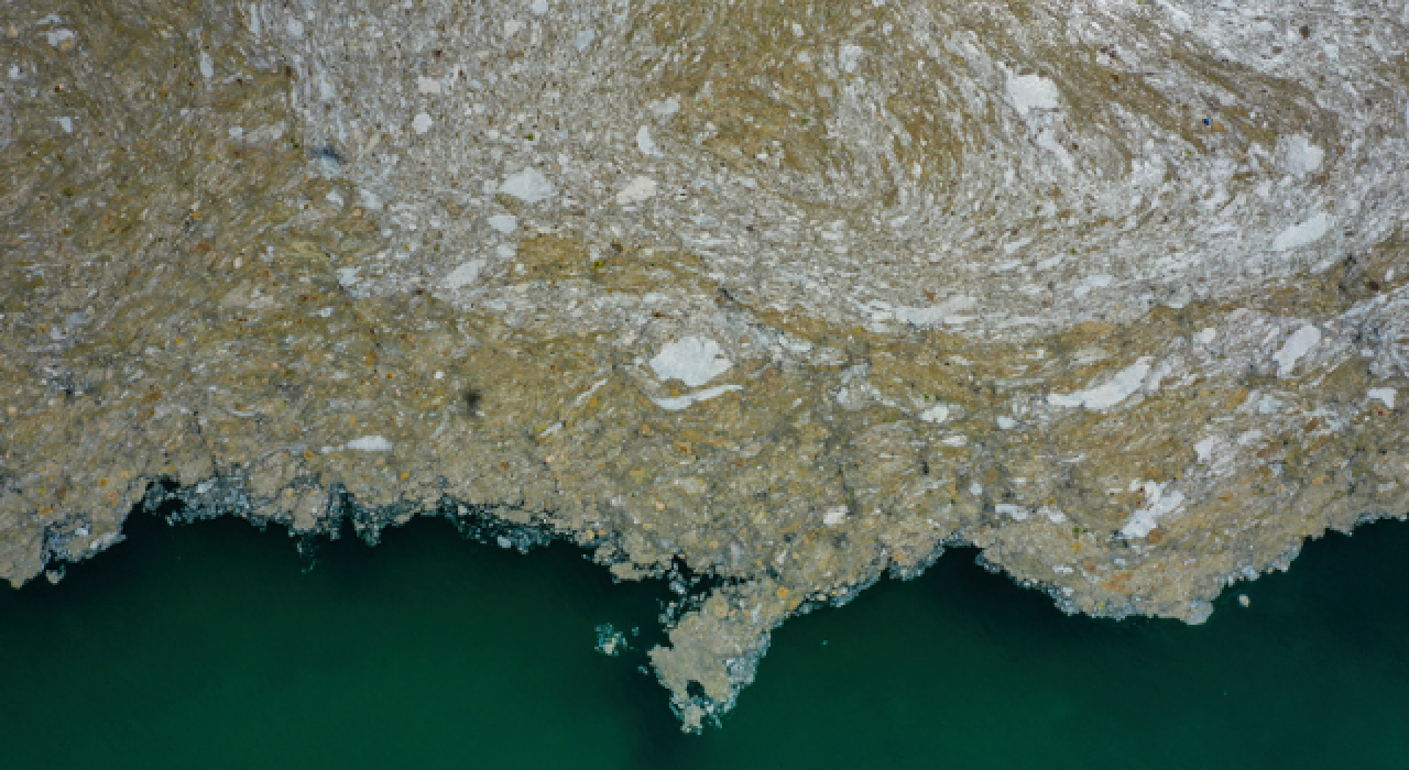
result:
[[[945,543],[1199,622],[1409,511],[1402,4],[107,0],[0,39],[11,583],[154,494],[561,535],[682,576],[651,657],[699,728]]]

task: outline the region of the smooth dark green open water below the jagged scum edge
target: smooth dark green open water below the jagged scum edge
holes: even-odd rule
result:
[[[304,572],[278,528],[128,532],[0,590],[0,769],[1409,767],[1403,522],[1309,543],[1198,628],[1068,618],[951,552],[790,621],[702,736],[637,671],[665,586],[566,545],[417,521]],[[603,622],[637,649],[595,652]]]

